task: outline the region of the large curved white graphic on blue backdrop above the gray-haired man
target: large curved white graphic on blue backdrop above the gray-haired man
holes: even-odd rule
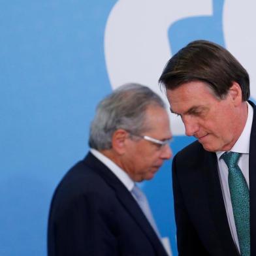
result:
[[[108,17],[104,37],[106,67],[112,88],[138,82],[165,99],[157,80],[172,56],[168,39],[170,25],[183,18],[210,15],[210,0],[118,1]],[[172,133],[184,135],[180,118],[170,114],[170,121]]]

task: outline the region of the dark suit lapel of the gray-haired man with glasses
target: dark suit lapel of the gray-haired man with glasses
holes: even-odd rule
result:
[[[152,226],[148,222],[148,219],[144,216],[142,210],[138,206],[136,200],[133,198],[131,193],[127,190],[125,185],[123,185],[120,180],[113,174],[108,167],[106,167],[99,159],[94,157],[91,153],[88,153],[86,156],[86,165],[89,165],[95,172],[97,172],[110,187],[116,191],[116,197],[120,200],[120,204],[122,204],[127,212],[133,217],[136,221],[137,225],[142,229],[144,234],[151,241],[153,247],[157,250],[159,248],[163,249],[161,255],[165,255],[165,249],[163,248],[157,234],[153,230]]]

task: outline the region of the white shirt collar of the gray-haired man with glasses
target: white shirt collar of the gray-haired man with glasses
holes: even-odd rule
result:
[[[103,155],[103,153],[95,150],[94,148],[90,149],[90,152],[101,161],[106,167],[108,167],[117,177],[118,179],[125,185],[125,187],[131,192],[133,189],[135,182],[129,177],[129,175],[121,169],[116,163],[110,160],[108,157]]]

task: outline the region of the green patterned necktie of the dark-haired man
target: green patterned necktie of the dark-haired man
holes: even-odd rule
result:
[[[240,153],[226,152],[221,158],[229,168],[229,191],[234,214],[234,223],[242,256],[250,255],[249,189],[246,179],[238,167]]]

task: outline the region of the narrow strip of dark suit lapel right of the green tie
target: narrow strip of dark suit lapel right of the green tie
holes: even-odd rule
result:
[[[249,200],[250,200],[250,229],[251,255],[256,255],[256,107],[253,106],[253,123],[249,142]]]

